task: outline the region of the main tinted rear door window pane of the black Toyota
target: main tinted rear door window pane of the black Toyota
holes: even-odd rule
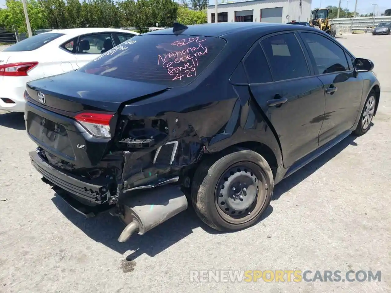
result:
[[[293,32],[266,38],[261,45],[269,60],[274,81],[310,75],[303,50]]]

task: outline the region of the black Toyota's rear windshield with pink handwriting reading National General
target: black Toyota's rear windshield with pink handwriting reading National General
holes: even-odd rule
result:
[[[140,35],[99,55],[79,71],[184,86],[205,70],[224,45],[223,39],[212,37]]]

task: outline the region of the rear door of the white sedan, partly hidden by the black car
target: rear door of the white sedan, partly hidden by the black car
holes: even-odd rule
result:
[[[76,53],[77,66],[84,66],[114,46],[115,42],[111,33],[95,33],[80,36]]]

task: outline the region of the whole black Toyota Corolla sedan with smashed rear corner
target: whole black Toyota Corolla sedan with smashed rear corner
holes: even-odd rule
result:
[[[29,82],[29,155],[76,211],[121,218],[118,241],[188,202],[216,230],[243,229],[275,184],[369,130],[373,67],[312,27],[174,23]]]

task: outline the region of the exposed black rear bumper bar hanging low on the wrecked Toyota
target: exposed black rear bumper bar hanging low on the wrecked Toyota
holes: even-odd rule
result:
[[[72,174],[51,166],[36,151],[29,152],[29,155],[34,168],[54,185],[87,200],[92,205],[107,202],[108,191],[106,184],[102,185],[102,183],[106,183],[103,180],[80,180]]]

